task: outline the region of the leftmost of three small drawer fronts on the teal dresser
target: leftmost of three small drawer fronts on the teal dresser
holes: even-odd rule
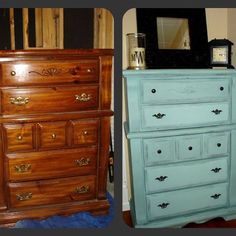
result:
[[[175,141],[172,139],[147,139],[143,145],[146,165],[175,160]]]

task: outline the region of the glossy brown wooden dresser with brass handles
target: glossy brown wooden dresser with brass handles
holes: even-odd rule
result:
[[[108,212],[112,56],[0,51],[0,224]]]

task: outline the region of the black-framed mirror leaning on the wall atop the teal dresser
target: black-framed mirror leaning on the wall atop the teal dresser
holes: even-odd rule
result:
[[[147,68],[209,68],[204,8],[137,8],[137,30],[146,34]]]

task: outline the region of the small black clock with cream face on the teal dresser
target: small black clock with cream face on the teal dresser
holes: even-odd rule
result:
[[[210,66],[234,68],[231,65],[231,47],[228,39],[213,39],[209,42]]]

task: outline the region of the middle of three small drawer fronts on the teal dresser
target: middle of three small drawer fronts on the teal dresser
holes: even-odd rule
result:
[[[200,158],[202,154],[201,136],[186,136],[178,140],[179,159]]]

